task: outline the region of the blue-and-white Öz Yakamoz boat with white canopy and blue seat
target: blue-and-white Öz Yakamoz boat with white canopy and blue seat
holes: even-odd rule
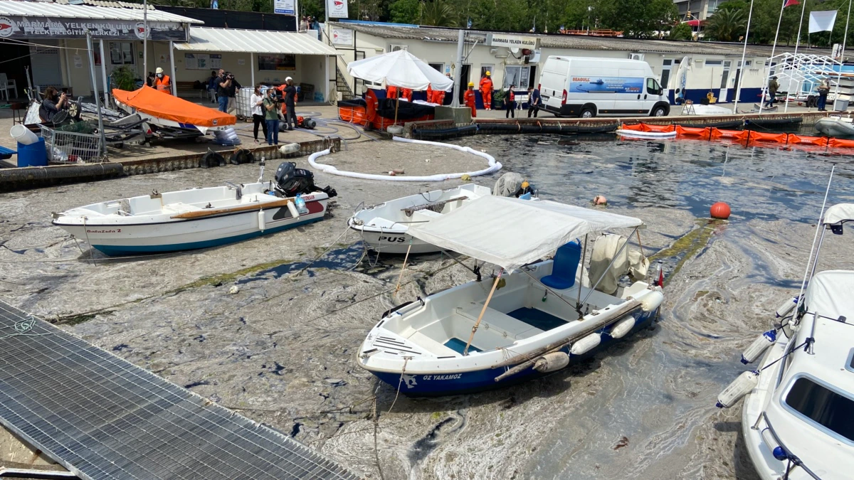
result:
[[[579,281],[589,234],[641,225],[559,202],[482,196],[412,226],[412,237],[500,266],[500,272],[384,313],[357,361],[414,396],[491,389],[558,371],[645,327],[658,312],[660,287],[635,281],[618,290],[619,271],[633,253],[642,257],[628,251],[624,237],[599,237],[597,243],[617,247],[616,255],[608,258],[594,247],[590,278],[598,280],[593,289]],[[541,260],[552,253],[554,260]],[[641,265],[635,273],[644,278],[648,261]],[[600,284],[615,295],[595,290]]]

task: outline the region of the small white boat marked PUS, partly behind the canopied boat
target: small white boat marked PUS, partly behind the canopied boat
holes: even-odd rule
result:
[[[360,232],[368,248],[383,254],[406,254],[407,249],[412,254],[438,252],[436,245],[412,238],[407,233],[409,227],[429,222],[466,202],[489,195],[492,190],[476,184],[431,190],[362,208],[347,220],[347,225]]]

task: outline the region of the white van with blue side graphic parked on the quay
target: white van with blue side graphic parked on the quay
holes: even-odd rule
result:
[[[539,89],[543,107],[559,117],[670,114],[665,91],[641,60],[549,56]]]

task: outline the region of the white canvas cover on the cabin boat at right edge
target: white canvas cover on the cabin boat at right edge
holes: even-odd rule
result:
[[[826,270],[810,278],[804,304],[812,313],[838,319],[840,315],[854,318],[854,272]]]

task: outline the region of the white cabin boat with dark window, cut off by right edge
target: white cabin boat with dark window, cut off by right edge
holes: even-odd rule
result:
[[[819,225],[841,234],[854,203],[828,208]],[[822,241],[815,252],[814,273]],[[810,260],[812,260],[810,251]],[[807,284],[807,276],[804,276]],[[801,291],[804,289],[802,287]],[[742,354],[762,357],[717,397],[732,407],[742,397],[741,430],[759,477],[834,480],[854,477],[854,271],[809,278],[804,295],[789,297],[774,328]],[[763,356],[764,354],[764,356]]]

